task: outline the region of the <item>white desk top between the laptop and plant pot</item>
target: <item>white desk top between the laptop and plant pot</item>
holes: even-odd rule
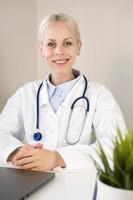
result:
[[[56,172],[51,182],[33,193],[27,200],[92,200],[94,183],[93,170],[77,173]]]

